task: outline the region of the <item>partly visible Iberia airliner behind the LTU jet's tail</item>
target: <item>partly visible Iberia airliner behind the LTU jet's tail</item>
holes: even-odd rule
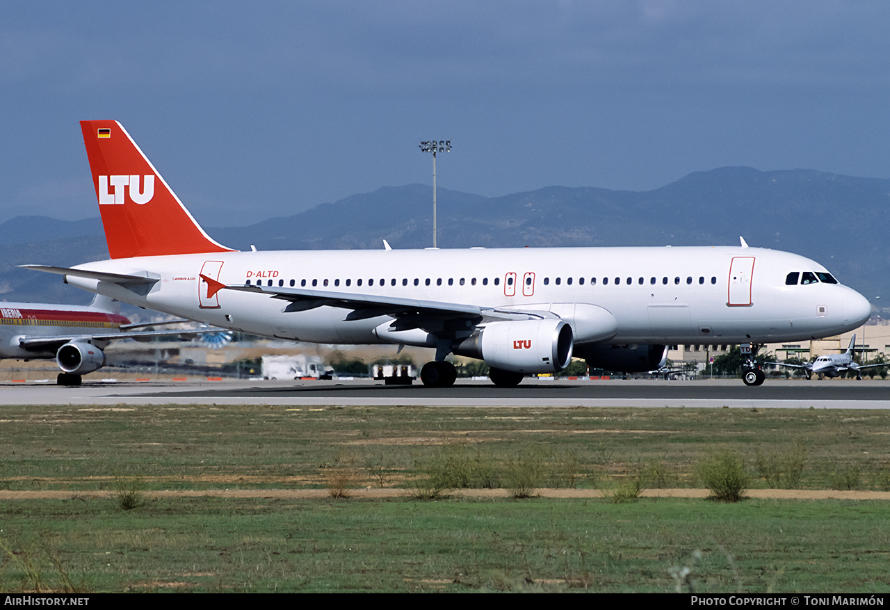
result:
[[[119,305],[119,304],[117,304]],[[170,322],[165,322],[170,323]],[[122,338],[147,340],[181,331],[137,330],[110,297],[96,295],[87,306],[49,303],[0,303],[0,359],[55,359],[60,386],[79,386],[82,376],[105,366],[102,352]]]

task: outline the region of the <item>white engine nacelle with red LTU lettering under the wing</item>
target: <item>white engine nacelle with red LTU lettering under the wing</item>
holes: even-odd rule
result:
[[[461,341],[452,351],[480,358],[494,369],[553,373],[569,366],[573,338],[562,320],[498,321]]]

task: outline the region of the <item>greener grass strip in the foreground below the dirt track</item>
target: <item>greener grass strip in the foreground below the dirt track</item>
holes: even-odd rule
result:
[[[63,572],[81,591],[672,591],[681,565],[699,592],[890,586],[873,501],[20,500],[0,518],[53,590]],[[27,584],[5,561],[0,590]]]

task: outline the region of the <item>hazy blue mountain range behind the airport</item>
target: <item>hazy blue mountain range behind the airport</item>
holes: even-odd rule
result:
[[[432,199],[431,186],[384,187],[294,216],[206,231],[239,249],[383,248],[383,240],[425,248],[433,242]],[[437,207],[440,248],[736,245],[741,236],[750,246],[813,258],[871,299],[890,294],[887,179],[721,167],[653,191],[552,186],[483,197],[440,188]],[[10,301],[84,303],[89,296],[58,276],[15,265],[108,257],[98,217],[17,216],[0,224],[0,236],[0,298]]]

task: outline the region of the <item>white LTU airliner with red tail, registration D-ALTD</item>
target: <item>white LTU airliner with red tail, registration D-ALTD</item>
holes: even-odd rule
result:
[[[117,121],[83,121],[110,260],[29,265],[160,312],[270,338],[435,349],[498,386],[565,368],[659,368],[672,344],[741,344],[745,383],[767,342],[862,325],[869,302],[803,256],[760,248],[469,248],[238,252],[211,239]],[[322,271],[319,271],[322,270]],[[792,281],[812,272],[820,281]]]

